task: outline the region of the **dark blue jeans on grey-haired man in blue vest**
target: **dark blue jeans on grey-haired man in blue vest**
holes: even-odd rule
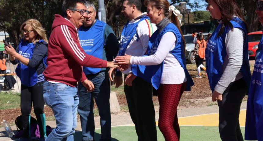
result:
[[[94,84],[94,91],[87,92],[87,89],[79,83],[78,95],[80,104],[78,113],[80,114],[80,122],[82,128],[82,139],[85,141],[94,140],[94,101],[98,106],[100,124],[101,124],[101,139],[100,141],[111,140],[111,117],[110,117],[110,86],[109,76],[107,72],[99,72],[93,75],[86,75],[87,79]]]

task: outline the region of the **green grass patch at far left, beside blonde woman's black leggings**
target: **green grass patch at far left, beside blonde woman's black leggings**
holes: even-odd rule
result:
[[[20,93],[1,92],[0,110],[20,107]]]

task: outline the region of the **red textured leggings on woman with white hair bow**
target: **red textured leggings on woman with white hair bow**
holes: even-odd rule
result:
[[[180,128],[177,118],[177,106],[185,90],[186,82],[182,84],[161,84],[158,93],[160,105],[158,127],[165,141],[179,141]]]

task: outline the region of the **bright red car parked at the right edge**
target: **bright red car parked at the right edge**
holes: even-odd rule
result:
[[[262,37],[262,31],[250,32],[247,35],[248,35],[248,56],[255,57],[257,45]]]

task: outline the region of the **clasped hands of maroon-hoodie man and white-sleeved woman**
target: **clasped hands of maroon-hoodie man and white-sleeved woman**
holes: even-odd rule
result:
[[[125,71],[128,69],[128,65],[130,65],[131,55],[125,54],[125,56],[117,56],[113,62],[108,62],[107,67],[113,69],[119,69],[120,71]]]

